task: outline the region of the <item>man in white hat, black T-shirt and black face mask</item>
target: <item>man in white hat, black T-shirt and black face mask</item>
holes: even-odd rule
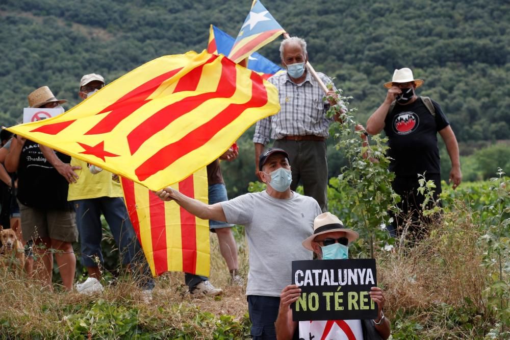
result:
[[[385,101],[370,116],[366,128],[370,134],[384,129],[388,136],[388,156],[392,158],[390,170],[395,173],[393,189],[402,198],[399,203],[402,213],[411,214],[414,222],[420,219],[420,205],[424,202],[424,196],[417,192],[417,174],[425,174],[427,181],[435,183],[435,201],[441,193],[438,132],[451,160],[449,181],[455,189],[462,180],[455,134],[439,104],[416,95],[415,90],[422,84],[423,80],[414,79],[411,69],[396,69],[392,81],[384,84],[388,89]],[[402,221],[398,216],[396,220],[396,227],[400,227]],[[393,235],[400,233],[400,230],[395,232],[395,226],[390,228]],[[421,232],[417,230],[417,236]]]

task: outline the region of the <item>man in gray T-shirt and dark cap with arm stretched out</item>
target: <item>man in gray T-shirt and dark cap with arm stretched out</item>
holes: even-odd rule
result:
[[[249,247],[246,295],[251,336],[256,340],[276,339],[279,296],[291,282],[291,262],[312,259],[312,252],[301,247],[301,241],[312,235],[314,218],[322,213],[313,198],[291,191],[288,157],[278,148],[263,152],[259,171],[267,189],[230,201],[207,205],[170,187],[156,192],[162,200],[174,200],[200,218],[245,226]]]

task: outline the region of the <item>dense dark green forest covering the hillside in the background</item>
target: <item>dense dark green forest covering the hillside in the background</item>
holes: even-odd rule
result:
[[[250,5],[251,0],[4,0],[0,122],[16,123],[27,95],[39,86],[48,85],[72,106],[83,74],[96,72],[110,82],[161,55],[201,51],[211,23],[236,36]],[[384,99],[382,84],[393,70],[411,67],[425,80],[418,93],[441,104],[457,139],[469,145],[461,153],[508,138],[507,1],[266,0],[264,5],[291,35],[307,40],[314,67],[353,96],[360,122]],[[278,43],[260,52],[279,62]],[[225,166],[242,169],[227,179],[231,194],[246,190],[246,179],[241,183],[237,174],[253,175],[250,135],[239,141],[240,159]],[[334,175],[342,158],[334,148],[328,152]]]

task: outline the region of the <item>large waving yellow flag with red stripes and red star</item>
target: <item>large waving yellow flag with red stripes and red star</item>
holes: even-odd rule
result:
[[[159,190],[278,111],[276,88],[256,72],[188,52],[152,60],[57,117],[8,130]]]

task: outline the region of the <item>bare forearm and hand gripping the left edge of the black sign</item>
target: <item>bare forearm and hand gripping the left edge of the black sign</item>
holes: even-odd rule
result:
[[[290,284],[280,294],[280,306],[276,318],[276,338],[278,340],[290,340],[296,331],[297,322],[292,321],[292,309],[290,305],[296,302],[301,295],[301,289],[295,284]]]

